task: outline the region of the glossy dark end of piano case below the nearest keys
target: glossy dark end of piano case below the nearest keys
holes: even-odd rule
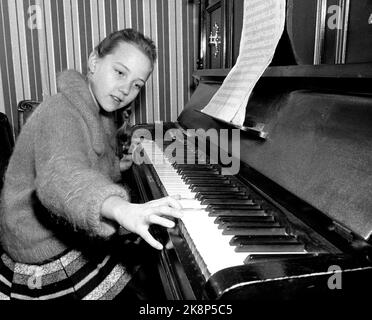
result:
[[[372,266],[344,255],[278,259],[220,270],[205,285],[211,300],[363,299]],[[364,290],[363,290],[364,289]]]

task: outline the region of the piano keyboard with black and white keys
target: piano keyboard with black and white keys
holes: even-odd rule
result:
[[[181,196],[184,215],[178,225],[206,279],[254,257],[308,254],[301,241],[217,166],[172,164],[154,141],[141,144],[166,193]]]

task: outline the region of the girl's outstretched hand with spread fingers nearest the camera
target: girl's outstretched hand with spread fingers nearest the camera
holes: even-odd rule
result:
[[[165,228],[173,228],[175,223],[168,219],[181,218],[181,205],[172,197],[165,197],[143,204],[129,203],[119,197],[111,197],[105,201],[103,211],[110,209],[111,218],[121,227],[141,236],[155,249],[163,249],[162,244],[150,234],[151,224]],[[106,217],[109,217],[106,215]]]

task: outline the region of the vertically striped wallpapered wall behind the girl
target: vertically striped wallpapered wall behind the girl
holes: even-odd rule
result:
[[[126,27],[151,37],[159,59],[136,101],[133,122],[174,121],[190,97],[198,42],[190,0],[0,1],[0,111],[18,134],[17,104],[56,92],[56,74],[87,71],[106,34]]]

